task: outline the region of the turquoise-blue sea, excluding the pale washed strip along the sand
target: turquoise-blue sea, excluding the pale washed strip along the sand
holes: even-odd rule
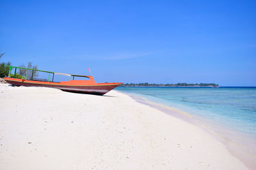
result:
[[[256,139],[255,87],[118,87]]]

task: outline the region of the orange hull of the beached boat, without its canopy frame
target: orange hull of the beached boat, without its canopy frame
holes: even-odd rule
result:
[[[61,82],[24,80],[18,78],[4,77],[4,80],[11,85],[27,87],[50,87],[67,92],[77,92],[84,94],[104,95],[122,83],[96,83],[90,76],[90,80],[70,80]]]

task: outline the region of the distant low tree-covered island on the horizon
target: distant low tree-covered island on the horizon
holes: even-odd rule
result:
[[[177,83],[177,84],[156,84],[156,83],[124,83],[120,87],[219,87],[215,83]]]

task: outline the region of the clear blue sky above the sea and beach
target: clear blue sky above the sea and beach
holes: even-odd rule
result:
[[[256,1],[0,1],[0,61],[98,82],[256,86]]]

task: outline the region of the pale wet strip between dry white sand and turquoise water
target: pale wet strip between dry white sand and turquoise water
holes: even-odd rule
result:
[[[122,91],[118,90],[118,92]],[[218,124],[217,122],[212,122],[207,118],[192,115],[191,113],[188,113],[186,111],[182,111],[171,106],[166,106],[155,101],[150,101],[146,97],[142,97],[138,94],[131,94],[129,92],[122,93],[131,96],[132,99],[134,99],[138,103],[146,104],[152,108],[156,108],[157,110],[163,111],[167,115],[179,118],[180,120],[188,122],[189,124],[193,124],[200,127],[202,130],[204,130],[205,132],[216,138],[218,141],[223,143],[223,145],[226,146],[228,152],[237,157],[237,159],[241,160],[247,167],[249,167],[250,169],[256,169],[256,146],[252,148],[252,145],[255,145],[255,140],[248,138],[248,135],[243,134],[242,132],[234,131],[233,129],[225,127],[225,125]],[[204,121],[208,124],[202,124],[202,122]],[[221,130],[217,131],[217,128]],[[239,136],[239,139],[243,138],[244,140],[238,141],[239,139],[230,139],[230,136],[236,138],[237,136]],[[248,140],[250,141],[248,142]],[[250,147],[246,147],[246,145],[243,145],[243,143],[250,144]]]

